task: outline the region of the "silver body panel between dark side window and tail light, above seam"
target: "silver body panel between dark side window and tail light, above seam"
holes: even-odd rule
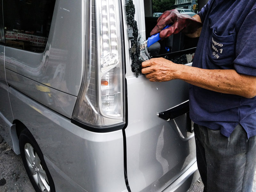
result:
[[[5,49],[5,68],[77,96],[84,72],[83,1],[56,0],[43,53]]]

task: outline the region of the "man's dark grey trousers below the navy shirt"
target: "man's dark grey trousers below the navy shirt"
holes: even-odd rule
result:
[[[251,192],[256,168],[256,136],[239,124],[229,138],[220,130],[194,125],[196,159],[204,192]]]

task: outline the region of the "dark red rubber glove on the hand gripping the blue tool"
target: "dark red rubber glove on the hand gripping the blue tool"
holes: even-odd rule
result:
[[[166,25],[172,24],[171,27],[162,30]],[[155,28],[150,32],[150,36],[160,32],[160,38],[164,39],[172,34],[177,34],[180,31],[184,34],[192,34],[201,28],[203,24],[196,21],[193,17],[186,14],[181,14],[177,9],[165,11],[157,20]]]

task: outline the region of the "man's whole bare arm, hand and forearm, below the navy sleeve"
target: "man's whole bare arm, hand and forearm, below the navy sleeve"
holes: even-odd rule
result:
[[[201,69],[155,58],[142,63],[141,72],[150,81],[181,79],[215,92],[252,98],[256,95],[256,77],[238,74],[233,69]],[[146,68],[144,68],[146,67]]]

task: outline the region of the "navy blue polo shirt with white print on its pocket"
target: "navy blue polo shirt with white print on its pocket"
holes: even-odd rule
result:
[[[192,66],[256,76],[256,0],[210,0],[198,15],[203,28]],[[190,85],[189,103],[196,124],[227,137],[241,124],[248,138],[256,135],[256,97]]]

